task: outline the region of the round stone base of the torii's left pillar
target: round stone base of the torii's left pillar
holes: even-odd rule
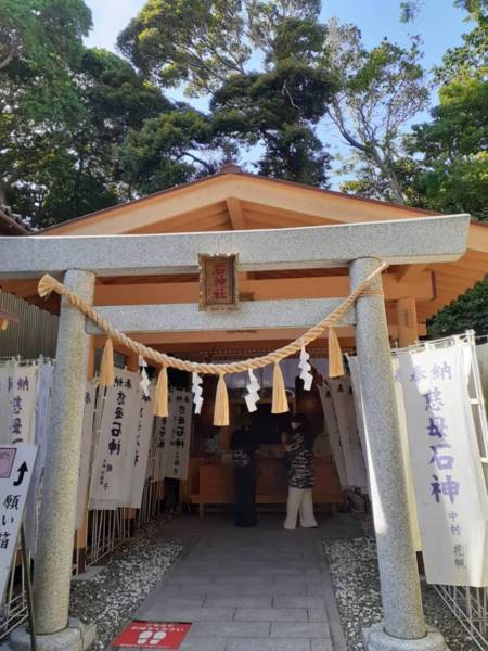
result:
[[[85,651],[94,641],[97,627],[69,617],[66,628],[50,635],[37,635],[38,651]],[[10,634],[8,648],[12,651],[30,651],[27,626],[18,626]]]

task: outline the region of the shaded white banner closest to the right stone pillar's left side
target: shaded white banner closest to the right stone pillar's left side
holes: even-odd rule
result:
[[[339,429],[341,445],[346,465],[347,486],[368,490],[364,459],[359,441],[356,407],[349,378],[329,378],[335,413]]]

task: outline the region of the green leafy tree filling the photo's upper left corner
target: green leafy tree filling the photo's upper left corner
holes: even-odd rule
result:
[[[70,71],[90,26],[82,0],[0,0],[0,203],[28,182],[25,161],[44,135],[79,119]]]

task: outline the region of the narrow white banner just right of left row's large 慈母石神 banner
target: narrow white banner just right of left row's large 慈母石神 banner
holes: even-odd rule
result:
[[[132,484],[130,489],[130,506],[140,509],[147,470],[149,454],[154,429],[154,394],[155,386],[147,388],[149,395],[141,392],[139,408],[139,427],[136,437],[136,450],[132,459]]]

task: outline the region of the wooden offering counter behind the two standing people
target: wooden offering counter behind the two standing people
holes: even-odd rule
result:
[[[344,502],[337,472],[330,456],[313,460],[316,482],[313,502],[326,505],[335,514],[336,506]],[[234,503],[233,465],[220,459],[192,459],[189,476],[191,503],[198,505],[203,518],[206,505],[226,506]],[[286,505],[287,485],[283,458],[256,458],[256,503]]]

